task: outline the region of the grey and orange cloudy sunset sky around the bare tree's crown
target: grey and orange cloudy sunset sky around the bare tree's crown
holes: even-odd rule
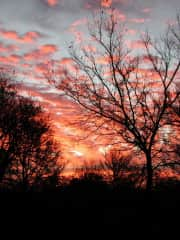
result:
[[[40,101],[50,113],[56,138],[75,164],[101,157],[102,147],[93,145],[93,137],[77,141],[83,131],[70,127],[69,120],[78,107],[49,85],[44,72],[52,61],[71,63],[69,44],[83,42],[92,13],[110,6],[127,24],[130,37],[147,28],[160,34],[180,11],[179,0],[0,0],[0,67],[15,69],[21,94]]]

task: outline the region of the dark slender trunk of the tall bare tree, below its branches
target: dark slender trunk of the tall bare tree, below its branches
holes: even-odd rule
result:
[[[152,168],[152,157],[151,152],[146,153],[146,169],[147,169],[147,179],[146,179],[146,191],[150,193],[153,186],[153,168]]]

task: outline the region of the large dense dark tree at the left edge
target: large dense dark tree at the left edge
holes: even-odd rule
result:
[[[41,106],[19,96],[5,75],[0,80],[0,180],[28,190],[59,175],[65,164]]]

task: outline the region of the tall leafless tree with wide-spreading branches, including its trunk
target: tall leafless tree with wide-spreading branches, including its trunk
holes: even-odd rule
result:
[[[170,108],[180,94],[174,91],[180,73],[179,21],[177,24],[159,40],[145,34],[143,48],[137,53],[127,48],[126,29],[114,11],[100,11],[89,27],[91,48],[82,44],[69,47],[76,71],[65,69],[64,75],[61,71],[59,76],[51,76],[82,107],[83,119],[87,117],[86,124],[96,133],[108,130],[119,137],[119,143],[143,153],[139,160],[146,164],[147,191],[153,187],[156,154],[164,148],[160,144],[163,129],[172,124],[167,121]]]

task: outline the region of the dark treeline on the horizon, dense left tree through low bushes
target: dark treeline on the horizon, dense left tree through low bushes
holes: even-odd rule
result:
[[[177,151],[174,152],[178,157],[178,144],[176,146]],[[104,161],[97,161],[96,165],[85,162],[82,168],[76,169],[72,179],[63,178],[66,162],[62,158],[60,146],[53,139],[49,117],[39,103],[20,96],[17,85],[13,83],[11,77],[1,72],[0,189],[2,191],[57,192],[66,187],[77,190],[82,188],[84,192],[88,186],[91,188],[94,186],[94,190],[93,188],[91,190],[95,192],[101,188],[120,191],[144,189],[145,167],[135,163],[133,159],[133,152],[124,155],[117,148],[111,148],[105,155]],[[179,187],[179,168],[173,164],[167,167],[174,168],[174,178],[168,180],[168,175],[161,178],[157,174],[154,176],[154,188]],[[165,173],[164,168],[160,169]]]

